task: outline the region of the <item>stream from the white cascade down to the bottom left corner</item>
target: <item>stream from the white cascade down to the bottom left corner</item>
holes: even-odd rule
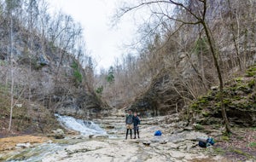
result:
[[[73,117],[61,116],[59,114],[55,114],[55,117],[67,130],[78,131],[80,136],[73,138],[67,136],[65,139],[58,140],[56,143],[38,144],[34,145],[33,148],[17,149],[4,155],[0,153],[0,161],[4,157],[3,159],[9,162],[39,162],[44,157],[51,153],[61,151],[68,145],[90,140],[88,138],[89,135],[107,135],[105,130],[92,121],[74,119]]]

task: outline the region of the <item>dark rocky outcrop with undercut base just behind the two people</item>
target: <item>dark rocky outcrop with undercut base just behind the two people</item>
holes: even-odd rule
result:
[[[187,88],[168,70],[163,69],[154,77],[145,93],[138,96],[130,107],[142,116],[177,113],[184,106],[183,97],[190,98]],[[179,92],[178,92],[179,91]]]

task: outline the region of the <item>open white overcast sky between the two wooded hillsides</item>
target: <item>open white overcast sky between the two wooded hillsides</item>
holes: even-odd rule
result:
[[[113,65],[115,58],[125,51],[123,44],[131,43],[136,32],[132,20],[122,20],[111,29],[111,16],[120,0],[48,0],[51,9],[61,9],[79,21],[84,28],[86,48],[96,59],[96,71]]]

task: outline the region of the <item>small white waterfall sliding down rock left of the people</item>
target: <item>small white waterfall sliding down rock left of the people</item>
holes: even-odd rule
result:
[[[82,119],[74,119],[69,116],[61,116],[59,114],[55,114],[57,120],[63,124],[67,129],[79,131],[82,135],[106,135],[107,132],[102,130],[102,128],[93,123],[92,121],[82,120]]]

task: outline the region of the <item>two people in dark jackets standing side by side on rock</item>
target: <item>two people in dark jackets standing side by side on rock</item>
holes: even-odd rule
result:
[[[130,135],[131,135],[131,130],[133,128],[134,130],[134,139],[136,139],[136,135],[138,138],[140,138],[139,136],[139,130],[138,130],[138,124],[140,124],[140,119],[137,116],[137,113],[135,112],[132,115],[131,110],[129,110],[129,114],[126,115],[126,119],[125,119],[125,124],[126,124],[126,140],[127,140],[127,136],[130,130]]]

